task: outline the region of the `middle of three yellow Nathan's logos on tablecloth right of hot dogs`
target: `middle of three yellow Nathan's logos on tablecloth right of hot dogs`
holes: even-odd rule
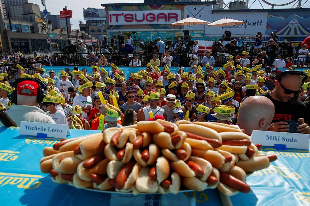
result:
[[[302,177],[300,174],[292,171],[291,168],[288,167],[277,167],[270,165],[268,168],[263,169],[263,170],[258,170],[253,173],[253,175],[272,175],[272,174],[280,174],[284,178],[289,178],[289,179],[301,179]]]

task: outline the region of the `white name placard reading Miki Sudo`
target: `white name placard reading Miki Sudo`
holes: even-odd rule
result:
[[[275,144],[286,145],[287,148],[309,149],[309,135],[289,132],[270,132],[253,130],[251,135],[253,144],[274,146]]]

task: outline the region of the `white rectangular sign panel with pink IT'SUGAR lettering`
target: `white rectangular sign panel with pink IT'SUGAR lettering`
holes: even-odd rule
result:
[[[181,20],[181,10],[109,11],[110,25],[171,24]]]

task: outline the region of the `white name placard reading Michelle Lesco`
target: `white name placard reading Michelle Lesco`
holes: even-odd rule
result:
[[[20,122],[19,134],[40,138],[55,137],[65,139],[71,131],[66,124],[50,124],[39,122]]]

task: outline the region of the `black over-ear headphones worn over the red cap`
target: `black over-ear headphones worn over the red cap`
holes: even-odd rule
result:
[[[33,82],[37,82],[40,86],[43,87],[43,90],[46,91],[47,90],[47,86],[44,82],[42,82],[41,80],[35,79],[35,78],[20,78],[17,79],[15,82],[13,82],[12,87],[15,88],[15,90],[12,91],[11,95],[9,95],[9,99],[11,100],[12,103],[17,104],[17,90],[16,90],[16,85],[19,84],[20,82],[24,82],[24,81],[33,81]],[[43,91],[40,89],[38,89],[37,91],[37,102],[38,103],[42,103],[43,99],[45,97],[45,94],[43,93]]]

